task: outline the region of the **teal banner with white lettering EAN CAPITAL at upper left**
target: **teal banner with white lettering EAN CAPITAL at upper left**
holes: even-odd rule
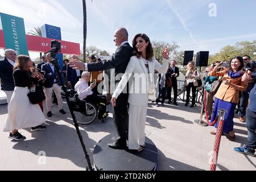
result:
[[[5,48],[14,49],[17,55],[28,55],[23,18],[0,13]]]

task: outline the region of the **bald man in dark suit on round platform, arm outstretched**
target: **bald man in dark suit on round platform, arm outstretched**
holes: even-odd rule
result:
[[[132,56],[133,48],[128,43],[128,32],[125,28],[118,28],[114,34],[115,46],[118,46],[112,59],[108,61],[100,61],[97,63],[82,63],[81,61],[70,61],[69,65],[73,69],[86,71],[102,71],[105,69],[115,68],[115,76],[119,73],[125,73],[127,64]],[[118,80],[115,84],[118,84]],[[109,147],[116,149],[126,148],[126,131],[128,131],[128,109],[127,109],[128,93],[121,93],[117,98],[117,104],[114,107],[114,123],[117,127],[119,139],[114,143],[109,143]]]

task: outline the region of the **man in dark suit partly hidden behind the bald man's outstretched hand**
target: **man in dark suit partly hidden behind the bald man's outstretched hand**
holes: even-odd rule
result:
[[[76,55],[72,55],[72,60],[77,60],[78,57]],[[67,68],[67,81],[70,88],[75,89],[75,85],[77,81],[81,78],[82,71],[72,69],[71,67]]]

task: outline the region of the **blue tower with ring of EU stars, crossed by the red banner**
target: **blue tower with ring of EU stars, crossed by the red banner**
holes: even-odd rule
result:
[[[42,37],[61,40],[60,27],[44,24],[41,27]],[[58,53],[56,58],[59,59],[60,68],[63,68],[63,53]]]

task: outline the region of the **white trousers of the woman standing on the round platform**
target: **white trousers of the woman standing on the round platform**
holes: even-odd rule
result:
[[[147,118],[147,105],[129,105],[129,133],[128,148],[138,150],[145,144],[145,125]]]

